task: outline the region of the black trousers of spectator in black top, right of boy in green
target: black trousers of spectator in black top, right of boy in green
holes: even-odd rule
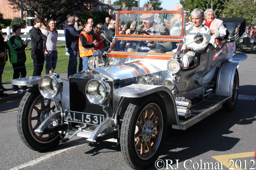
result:
[[[41,76],[43,71],[43,63],[45,62],[45,54],[37,53],[31,54],[32,59],[34,60],[34,71],[33,76]]]

